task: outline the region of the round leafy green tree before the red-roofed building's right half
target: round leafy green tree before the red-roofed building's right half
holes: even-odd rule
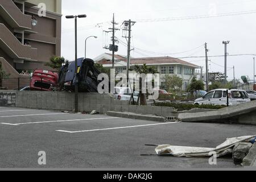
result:
[[[183,79],[177,75],[166,75],[166,89],[168,92],[180,91],[183,85]]]

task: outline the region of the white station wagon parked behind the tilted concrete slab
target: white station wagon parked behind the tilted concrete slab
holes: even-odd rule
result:
[[[216,89],[208,92],[203,97],[195,100],[197,105],[227,105],[227,89]],[[245,90],[228,90],[229,105],[239,105],[250,102],[250,98]]]

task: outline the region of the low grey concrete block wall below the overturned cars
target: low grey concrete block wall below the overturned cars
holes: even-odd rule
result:
[[[0,90],[0,106],[27,107],[32,109],[74,110],[74,93]],[[114,100],[110,94],[79,93],[79,111],[97,110],[152,114],[177,117],[173,107],[129,105],[127,101]]]

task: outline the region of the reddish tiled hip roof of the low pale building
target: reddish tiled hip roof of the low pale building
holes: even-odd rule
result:
[[[108,64],[112,64],[112,59],[109,59],[109,56],[112,56],[112,54],[110,53],[105,53],[108,56],[102,56],[100,59],[100,57],[97,57],[98,59],[95,60],[97,61],[97,63],[99,64],[103,64],[103,65],[108,65]],[[115,55],[115,62],[117,61],[123,61],[123,62],[127,62],[126,57],[125,56],[121,56],[121,55]],[[181,64],[181,65],[188,65],[190,67],[195,67],[195,68],[200,68],[198,65],[192,64],[192,63],[188,63],[187,61],[183,61],[180,59],[176,59],[174,57],[140,57],[140,58],[131,58],[131,65],[142,65],[142,64],[147,64],[147,65],[159,65],[159,64]]]

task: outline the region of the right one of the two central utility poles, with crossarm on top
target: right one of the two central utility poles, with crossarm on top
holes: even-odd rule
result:
[[[130,69],[130,52],[131,52],[131,26],[134,26],[136,22],[131,21],[130,19],[128,21],[124,21],[123,24],[125,24],[125,28],[123,29],[123,32],[128,31],[128,36],[123,36],[123,38],[128,38],[127,40],[127,85],[129,87],[129,69]]]

